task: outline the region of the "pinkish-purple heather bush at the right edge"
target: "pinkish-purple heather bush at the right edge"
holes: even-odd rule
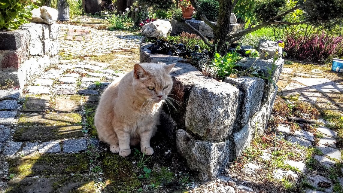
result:
[[[310,34],[304,36],[287,36],[285,51],[288,57],[305,61],[324,62],[329,58],[343,57],[343,37]]]

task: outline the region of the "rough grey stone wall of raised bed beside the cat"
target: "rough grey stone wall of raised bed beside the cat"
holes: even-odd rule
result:
[[[274,104],[277,87],[256,77],[226,78],[218,82],[187,63],[181,57],[151,54],[151,43],[140,47],[140,62],[176,63],[171,70],[174,86],[170,97],[179,101],[169,105],[161,123],[170,136],[176,136],[179,153],[188,167],[202,181],[217,177],[227,162],[250,145],[252,138],[263,132]],[[256,61],[255,61],[256,60]],[[272,60],[245,57],[242,69],[253,63],[267,72]],[[284,60],[277,60],[272,77],[279,79]]]

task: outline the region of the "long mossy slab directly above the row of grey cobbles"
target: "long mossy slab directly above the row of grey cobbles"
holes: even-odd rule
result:
[[[19,127],[13,135],[13,140],[49,141],[65,138],[80,138],[83,137],[81,130],[81,125]]]

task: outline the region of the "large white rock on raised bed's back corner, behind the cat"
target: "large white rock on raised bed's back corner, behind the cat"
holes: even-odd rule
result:
[[[169,21],[156,20],[145,24],[142,27],[142,34],[147,37],[167,38],[171,33],[171,24]]]

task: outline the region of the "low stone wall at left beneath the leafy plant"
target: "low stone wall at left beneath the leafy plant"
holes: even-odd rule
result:
[[[24,87],[26,80],[58,63],[58,24],[27,23],[0,31],[0,84],[6,79]]]

